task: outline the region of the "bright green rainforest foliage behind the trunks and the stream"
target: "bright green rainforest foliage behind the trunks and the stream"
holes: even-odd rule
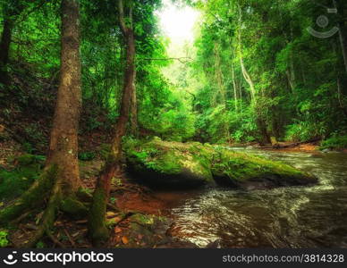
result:
[[[80,1],[83,131],[110,126],[119,115],[125,48],[115,2]],[[346,4],[323,2],[183,3],[201,16],[193,46],[182,47],[190,60],[182,62],[168,59],[170,41],[154,13],[160,1],[134,1],[134,116],[140,132],[212,143],[346,135]],[[3,102],[14,98],[15,113],[28,106],[52,113],[60,68],[59,6],[54,0],[1,2],[2,47],[9,43],[8,54],[1,51],[2,77],[12,77],[1,94]],[[322,15],[329,22],[324,29],[316,24]],[[334,26],[340,31],[329,38],[308,31]],[[165,66],[169,71],[162,71]],[[13,110],[6,108],[2,115],[9,117]],[[32,124],[26,134],[39,139],[38,128]]]

